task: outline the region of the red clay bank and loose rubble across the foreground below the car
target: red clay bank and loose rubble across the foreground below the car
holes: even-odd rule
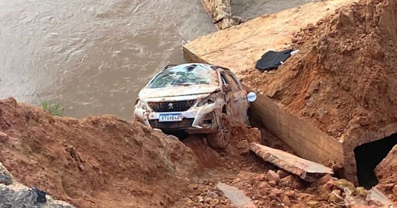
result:
[[[258,208],[346,203],[342,186],[351,183],[337,185],[329,175],[306,183],[245,149],[262,140],[288,150],[267,137],[256,128],[235,127],[230,145],[215,151],[199,135],[185,145],[115,116],[53,117],[12,98],[0,101],[0,162],[16,180],[78,208],[234,207],[216,189],[220,181],[243,190]],[[353,189],[354,199],[366,195]]]

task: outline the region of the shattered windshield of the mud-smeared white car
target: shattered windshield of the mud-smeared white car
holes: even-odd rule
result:
[[[216,71],[210,68],[188,65],[176,66],[162,71],[150,83],[149,88],[165,88],[172,86],[218,85]]]

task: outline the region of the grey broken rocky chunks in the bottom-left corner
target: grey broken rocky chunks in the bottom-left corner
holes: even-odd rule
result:
[[[42,191],[13,181],[2,163],[0,163],[0,180],[1,208],[74,208],[48,195],[44,195],[46,198],[41,199],[39,193],[43,193]]]

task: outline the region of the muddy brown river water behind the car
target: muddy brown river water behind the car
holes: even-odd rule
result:
[[[0,99],[130,119],[140,88],[187,61],[182,44],[215,30],[200,0],[0,0]]]

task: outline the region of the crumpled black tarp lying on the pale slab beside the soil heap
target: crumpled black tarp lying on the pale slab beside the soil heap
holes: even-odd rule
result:
[[[268,51],[262,55],[262,58],[258,60],[257,69],[262,71],[270,71],[278,68],[285,60],[291,57],[291,52],[294,50],[285,50],[282,52]]]

